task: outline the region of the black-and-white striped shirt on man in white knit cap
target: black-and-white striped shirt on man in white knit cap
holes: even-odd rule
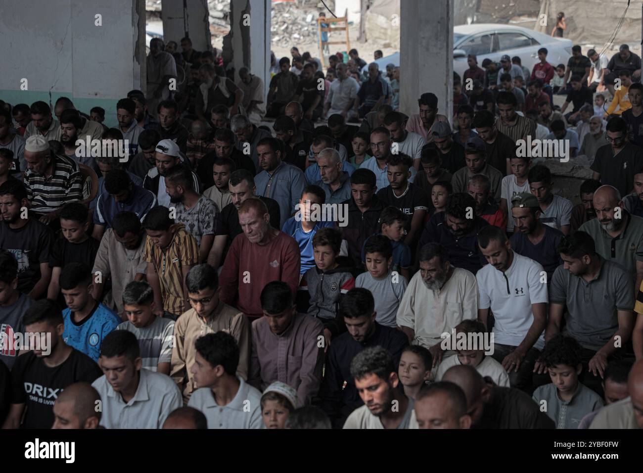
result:
[[[27,171],[24,175],[24,187],[32,210],[48,214],[68,202],[82,199],[83,176],[78,163],[67,156],[53,158],[51,176]]]

